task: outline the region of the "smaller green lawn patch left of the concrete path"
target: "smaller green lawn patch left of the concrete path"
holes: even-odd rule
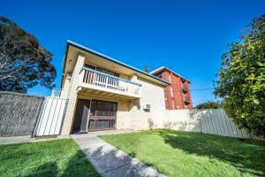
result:
[[[0,176],[100,176],[71,139],[0,146]]]

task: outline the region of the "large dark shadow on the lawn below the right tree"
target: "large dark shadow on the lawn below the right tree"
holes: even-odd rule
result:
[[[172,148],[229,162],[242,173],[265,175],[265,142],[170,130],[160,131],[160,135]]]

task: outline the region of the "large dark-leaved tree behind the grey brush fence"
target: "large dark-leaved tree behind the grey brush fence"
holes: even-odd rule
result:
[[[0,90],[26,93],[40,84],[54,87],[52,54],[9,19],[0,17]]]

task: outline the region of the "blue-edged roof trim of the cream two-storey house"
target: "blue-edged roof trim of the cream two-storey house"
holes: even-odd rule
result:
[[[135,72],[138,72],[138,73],[142,73],[142,74],[144,74],[144,75],[147,75],[148,77],[153,78],[153,79],[155,79],[155,80],[157,80],[157,81],[162,81],[162,82],[165,83],[165,84],[171,85],[170,82],[168,82],[168,81],[164,81],[163,79],[160,79],[160,78],[156,77],[155,75],[153,75],[153,74],[151,74],[151,73],[147,73],[147,72],[141,71],[140,69],[138,69],[138,68],[136,68],[136,67],[133,67],[132,65],[127,65],[127,64],[125,64],[125,63],[123,63],[123,62],[121,62],[121,61],[119,61],[119,60],[117,60],[117,59],[115,59],[115,58],[110,58],[109,56],[106,56],[106,55],[104,55],[104,54],[102,54],[102,53],[100,53],[100,52],[98,52],[98,51],[91,50],[91,49],[89,49],[89,48],[87,48],[87,47],[85,47],[85,46],[83,46],[83,45],[80,45],[79,43],[72,42],[72,41],[70,41],[70,40],[67,40],[67,43],[66,43],[66,50],[65,50],[66,54],[65,54],[65,56],[64,56],[63,73],[64,73],[65,62],[66,62],[66,58],[67,58],[67,50],[68,50],[68,48],[69,48],[70,45],[72,45],[73,47],[76,47],[76,48],[78,48],[78,49],[80,49],[80,50],[85,50],[85,51],[87,51],[87,52],[89,52],[89,53],[92,53],[92,54],[98,56],[98,57],[101,57],[101,58],[107,59],[107,60],[109,60],[109,61],[111,61],[111,62],[113,62],[113,63],[116,63],[117,65],[122,65],[122,66],[125,66],[125,67],[129,68],[129,69],[132,69],[132,70],[135,71]],[[62,81],[61,81],[61,84],[62,84],[62,83],[63,83],[63,79],[62,79]]]

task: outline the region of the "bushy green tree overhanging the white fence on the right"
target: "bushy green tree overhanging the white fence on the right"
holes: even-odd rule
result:
[[[249,133],[265,136],[265,15],[246,28],[222,57],[215,95]]]

